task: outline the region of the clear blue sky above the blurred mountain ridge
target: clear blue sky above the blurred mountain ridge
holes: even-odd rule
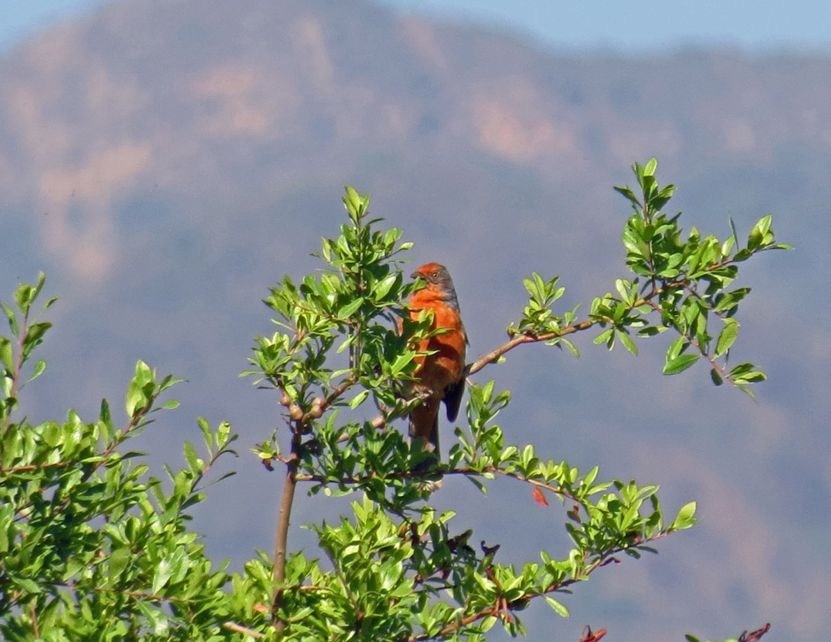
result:
[[[0,52],[40,29],[110,0],[4,0]],[[831,51],[827,0],[376,0],[405,12],[484,22],[558,48],[649,51],[717,44],[753,51]]]

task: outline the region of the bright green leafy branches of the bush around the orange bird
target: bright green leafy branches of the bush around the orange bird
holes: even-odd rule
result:
[[[507,342],[470,363],[469,375],[522,343],[577,353],[576,335],[598,328],[595,343],[635,354],[638,341],[673,333],[666,374],[703,359],[716,384],[750,392],[765,377],[750,363],[728,365],[750,292],[730,288],[741,262],[786,247],[775,242],[770,217],[744,247],[735,229],[724,241],[695,229],[683,235],[680,214],[663,212],[674,188],[657,184],[655,160],[634,170],[637,195],[616,188],[633,210],[622,235],[631,276],[581,318],[579,309],[556,309],[564,292],[558,277],[533,274]],[[532,600],[567,616],[565,595],[579,582],[694,524],[695,502],[667,518],[654,485],[601,480],[597,467],[581,472],[533,444],[510,443],[496,420],[511,395],[493,380],[470,383],[466,420],[444,462],[411,448],[395,422],[420,402],[407,398],[407,383],[416,376],[416,346],[430,333],[429,319],[412,320],[403,303],[416,287],[401,271],[411,244],[400,230],[378,229],[367,196],[347,188],[344,205],[340,235],[322,240],[323,269],[298,282],[287,276],[265,299],[276,329],[255,338],[244,374],[273,389],[284,408],[280,427],[253,450],[266,467],[283,467],[285,478],[273,555],[259,553],[239,572],[210,561],[189,528],[206,476],[234,453],[229,424],[212,428],[199,418],[204,454],[185,443],[183,468],[165,468],[165,481],[151,476],[129,440],[156,410],[176,406],[160,397],[179,380],[157,378],[139,362],[125,422],[102,402],[94,422],[70,411],[66,421],[32,426],[17,418],[17,396],[46,368],[32,363],[49,328],[32,314],[44,276],[17,288],[14,307],[2,305],[12,330],[0,338],[3,639],[475,641],[494,625],[516,635],[525,632],[521,614]],[[431,505],[447,476],[483,491],[504,477],[546,506],[558,500],[570,548],[500,562],[499,545],[475,546],[468,525]],[[301,485],[310,495],[356,495],[351,515],[308,525],[317,556],[288,546]]]

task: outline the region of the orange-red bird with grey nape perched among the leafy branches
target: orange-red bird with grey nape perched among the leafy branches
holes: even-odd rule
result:
[[[453,280],[444,265],[428,263],[411,274],[426,281],[410,299],[410,315],[418,319],[422,310],[432,312],[430,329],[446,332],[426,338],[418,345],[419,352],[432,352],[416,357],[419,368],[412,390],[425,396],[410,413],[410,437],[420,440],[421,447],[439,454],[439,409],[447,407],[447,418],[455,421],[465,391],[465,347],[468,343],[465,326],[459,313],[459,299]],[[435,351],[435,352],[434,352]]]

